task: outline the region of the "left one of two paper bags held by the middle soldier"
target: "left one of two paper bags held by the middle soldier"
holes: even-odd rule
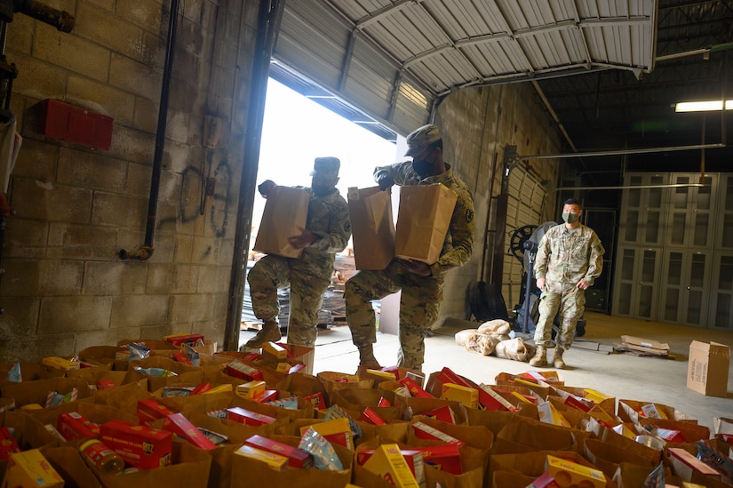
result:
[[[392,193],[379,187],[348,188],[356,269],[380,270],[394,258]]]

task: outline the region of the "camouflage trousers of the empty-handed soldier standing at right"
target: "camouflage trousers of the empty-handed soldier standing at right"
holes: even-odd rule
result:
[[[586,310],[586,292],[575,285],[564,285],[562,293],[542,292],[539,300],[539,320],[535,344],[552,345],[554,316],[560,311],[560,332],[555,337],[557,347],[567,349],[573,343],[578,318]]]

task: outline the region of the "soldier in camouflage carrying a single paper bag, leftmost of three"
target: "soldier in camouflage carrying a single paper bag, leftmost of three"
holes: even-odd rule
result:
[[[316,157],[306,228],[299,236],[291,236],[290,244],[302,249],[299,258],[267,255],[251,268],[247,275],[250,284],[252,311],[263,321],[262,330],[249,340],[244,348],[260,348],[267,341],[280,340],[280,326],[275,317],[280,311],[277,290],[291,287],[291,314],[288,324],[288,343],[314,347],[317,335],[318,311],[323,293],[331,283],[336,253],[347,247],[351,237],[348,205],[339,194],[340,162],[336,157]],[[267,194],[275,182],[267,180],[259,185],[259,192]]]

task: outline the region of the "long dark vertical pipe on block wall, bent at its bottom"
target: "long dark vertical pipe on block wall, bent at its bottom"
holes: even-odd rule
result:
[[[158,194],[160,192],[160,175],[163,171],[163,148],[165,148],[165,130],[168,126],[168,101],[171,94],[171,76],[173,72],[173,53],[176,48],[178,31],[179,0],[171,0],[171,18],[168,21],[168,39],[165,44],[165,61],[163,67],[163,83],[160,92],[160,108],[158,108],[158,128],[155,133],[155,155],[153,156],[153,172],[150,177],[150,196],[147,199],[147,225],[145,227],[145,244],[137,250],[121,249],[121,260],[148,260],[155,247],[155,222],[158,212]]]

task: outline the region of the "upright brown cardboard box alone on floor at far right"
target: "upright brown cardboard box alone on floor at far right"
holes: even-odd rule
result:
[[[728,346],[693,340],[688,361],[687,388],[707,396],[728,396]]]

